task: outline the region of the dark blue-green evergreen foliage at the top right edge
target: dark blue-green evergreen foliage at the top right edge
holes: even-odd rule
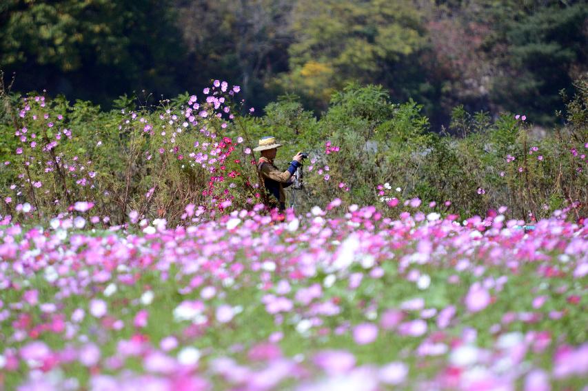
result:
[[[496,100],[537,123],[551,123],[554,112],[563,109],[560,90],[571,90],[574,64],[588,61],[587,17],[587,4],[578,2],[511,19],[504,37],[508,71],[496,80]]]

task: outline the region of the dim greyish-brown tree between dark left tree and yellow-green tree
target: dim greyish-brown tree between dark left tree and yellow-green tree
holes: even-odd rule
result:
[[[289,0],[176,1],[185,43],[201,83],[225,78],[241,85],[250,104],[275,96],[265,80],[287,66]]]

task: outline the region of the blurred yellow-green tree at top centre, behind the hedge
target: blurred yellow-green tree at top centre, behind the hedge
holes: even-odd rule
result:
[[[413,1],[299,0],[294,6],[285,90],[325,108],[348,81],[395,86],[395,67],[425,44],[423,14]]]

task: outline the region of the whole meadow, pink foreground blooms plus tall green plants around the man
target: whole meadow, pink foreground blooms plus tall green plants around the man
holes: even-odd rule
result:
[[[526,114],[2,94],[0,388],[588,390],[586,81]],[[253,148],[298,150],[267,210]],[[281,160],[280,160],[281,159]]]

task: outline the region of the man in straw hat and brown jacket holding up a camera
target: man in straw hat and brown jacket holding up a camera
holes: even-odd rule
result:
[[[302,154],[298,152],[290,162],[290,167],[284,172],[278,170],[274,166],[274,159],[278,148],[282,144],[276,143],[274,137],[263,137],[259,140],[259,145],[254,148],[254,151],[259,151],[261,157],[257,163],[257,170],[260,172],[261,180],[265,190],[270,193],[268,205],[270,208],[278,208],[280,212],[285,210],[286,195],[284,188],[292,185],[292,175],[296,172],[296,168],[301,166]]]

